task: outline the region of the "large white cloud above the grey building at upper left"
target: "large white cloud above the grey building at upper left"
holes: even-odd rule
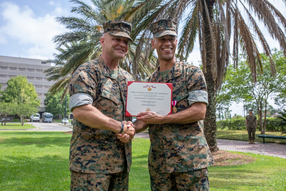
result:
[[[19,7],[10,2],[0,5],[3,9],[2,20],[5,22],[0,27],[0,43],[7,44],[9,38],[17,40],[19,46],[23,47],[20,57],[52,58],[52,54],[55,52],[52,38],[66,31],[63,25],[55,21],[55,17],[65,11],[57,5],[51,14],[47,13],[43,17],[39,17],[28,6]]]

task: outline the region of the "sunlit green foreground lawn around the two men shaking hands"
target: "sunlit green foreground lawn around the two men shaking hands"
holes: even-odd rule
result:
[[[67,191],[71,134],[0,131],[0,191]],[[129,190],[150,190],[148,139],[132,141]],[[256,158],[237,166],[209,167],[211,191],[286,190],[286,159],[240,153]]]

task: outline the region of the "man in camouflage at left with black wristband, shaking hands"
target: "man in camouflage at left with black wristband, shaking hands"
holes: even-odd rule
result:
[[[128,190],[132,160],[128,137],[132,139],[134,128],[131,117],[125,117],[125,105],[127,81],[133,81],[133,77],[118,63],[132,41],[131,24],[110,20],[103,27],[102,55],[82,64],[69,81],[70,109],[74,114],[70,190]],[[107,54],[112,51],[112,55]],[[121,130],[127,133],[125,142],[117,139]]]

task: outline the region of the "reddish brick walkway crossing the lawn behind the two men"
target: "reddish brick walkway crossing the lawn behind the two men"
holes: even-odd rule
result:
[[[148,133],[143,133],[143,132],[135,134],[134,137],[149,139]],[[263,144],[259,142],[255,142],[256,144],[248,144],[248,142],[249,141],[217,139],[217,146],[219,147],[219,149],[226,151],[255,153],[255,154],[268,155],[286,159],[286,145],[280,145],[274,143]]]

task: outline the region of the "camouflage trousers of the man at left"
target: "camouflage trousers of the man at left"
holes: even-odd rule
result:
[[[127,191],[129,172],[88,174],[71,171],[71,191]]]

